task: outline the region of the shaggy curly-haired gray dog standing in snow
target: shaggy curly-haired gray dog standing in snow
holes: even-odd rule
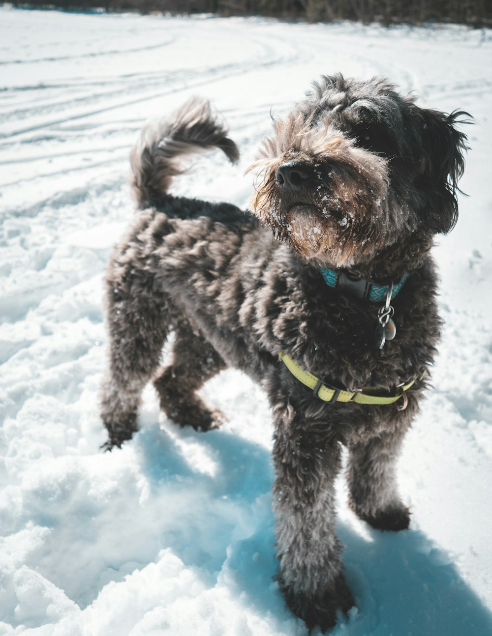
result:
[[[353,605],[335,535],[342,445],[353,511],[409,525],[395,462],[439,338],[430,248],[456,223],[463,114],[420,108],[386,79],[322,77],[264,142],[254,216],[168,193],[183,155],[237,160],[206,102],[132,151],[139,211],[107,277],[106,448],[137,430],[149,380],[171,420],[200,430],[222,417],[197,395],[206,380],[230,366],[259,382],[275,426],[279,586],[309,628]]]

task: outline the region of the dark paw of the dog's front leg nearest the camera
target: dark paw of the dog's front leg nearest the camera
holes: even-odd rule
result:
[[[302,618],[310,632],[319,627],[321,632],[327,633],[337,623],[337,612],[346,615],[355,605],[343,574],[339,574],[330,588],[316,594],[295,593],[280,578],[279,586],[290,611]]]

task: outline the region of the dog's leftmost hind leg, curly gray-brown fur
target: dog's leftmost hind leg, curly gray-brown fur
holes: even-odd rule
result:
[[[144,386],[160,362],[169,307],[148,273],[113,262],[106,293],[109,366],[101,386],[101,417],[108,429],[107,450],[121,446],[137,430]]]

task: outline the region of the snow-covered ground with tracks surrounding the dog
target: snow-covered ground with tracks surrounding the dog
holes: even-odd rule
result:
[[[435,249],[446,328],[400,487],[411,530],[369,529],[339,487],[358,608],[335,636],[492,633],[492,33],[0,8],[0,635],[302,635],[285,609],[262,392],[204,389],[220,431],[172,425],[101,453],[102,273],[132,218],[129,149],[193,93],[225,113],[239,169],[200,158],[175,191],[245,205],[242,173],[311,79],[383,74],[465,109],[461,218]]]

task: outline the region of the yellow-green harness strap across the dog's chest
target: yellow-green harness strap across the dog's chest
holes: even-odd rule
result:
[[[316,377],[313,373],[309,373],[309,371],[304,371],[302,367],[297,364],[297,362],[293,361],[292,357],[288,356],[285,353],[279,353],[279,358],[288,368],[290,373],[302,382],[302,384],[306,385],[309,389],[313,389],[313,393],[316,397],[319,397],[325,402],[355,402],[357,404],[393,404],[400,397],[404,399],[404,404],[402,405],[406,408],[407,405],[407,396],[405,396],[405,391],[410,389],[416,382],[421,380],[425,376],[425,371],[418,377],[413,378],[407,384],[404,384],[398,387],[399,392],[393,396],[380,396],[377,395],[378,389],[373,389],[371,387],[363,387],[363,389],[358,389],[358,391],[344,391],[343,389],[337,389],[336,387],[332,387],[326,382],[323,382],[321,378]],[[380,389],[381,391],[381,389]],[[402,408],[401,410],[404,410]]]

